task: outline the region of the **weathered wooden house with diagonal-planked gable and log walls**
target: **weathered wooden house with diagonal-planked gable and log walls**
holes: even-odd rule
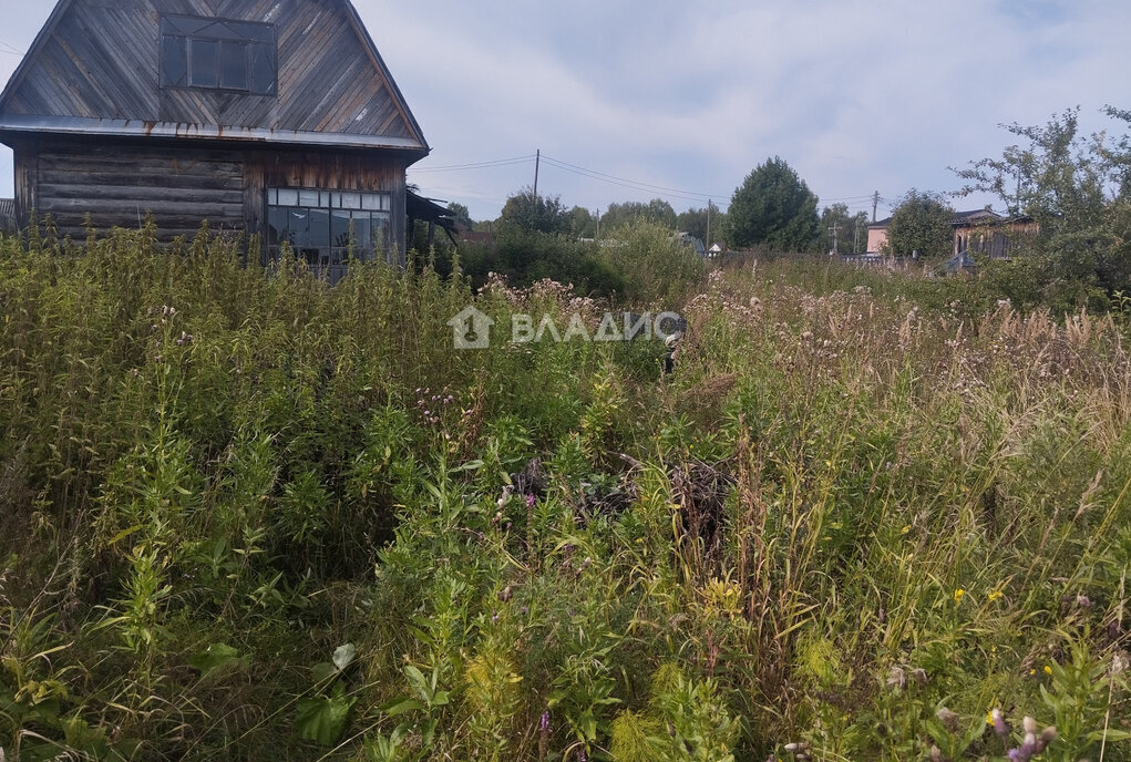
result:
[[[349,0],[61,0],[3,94],[16,222],[403,257],[428,142]]]

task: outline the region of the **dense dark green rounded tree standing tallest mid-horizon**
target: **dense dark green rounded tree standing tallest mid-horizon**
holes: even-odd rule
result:
[[[817,196],[777,156],[746,175],[726,216],[729,243],[739,249],[806,251],[819,234]]]

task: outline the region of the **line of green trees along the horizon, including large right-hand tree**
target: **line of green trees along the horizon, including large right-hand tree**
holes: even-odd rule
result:
[[[887,253],[917,252],[929,267],[950,258],[956,215],[951,199],[988,192],[1001,201],[1008,219],[1021,219],[1031,231],[1011,235],[1008,261],[977,261],[985,254],[972,252],[981,277],[993,288],[1018,306],[1106,306],[1125,297],[1131,283],[1131,136],[1126,133],[1131,111],[1114,106],[1103,111],[1122,128],[1121,136],[1119,131],[1082,135],[1079,107],[1054,114],[1044,125],[1003,125],[1017,142],[1000,157],[952,167],[962,181],[959,191],[913,188],[901,197],[888,220]],[[585,241],[647,223],[731,250],[862,253],[871,224],[866,213],[852,214],[844,204],[818,211],[817,194],[778,156],[746,175],[726,211],[711,204],[676,213],[667,201],[653,199],[611,204],[598,218],[530,188],[509,197],[499,218],[487,223],[474,223],[463,205],[449,208],[464,226],[491,230],[511,244],[519,236],[523,245],[530,245],[532,235]],[[564,252],[558,256],[569,258]]]

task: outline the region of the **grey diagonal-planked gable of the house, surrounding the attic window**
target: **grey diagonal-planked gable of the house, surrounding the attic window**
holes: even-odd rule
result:
[[[278,94],[162,88],[163,15],[271,23]],[[60,0],[0,95],[0,136],[429,147],[349,0]]]

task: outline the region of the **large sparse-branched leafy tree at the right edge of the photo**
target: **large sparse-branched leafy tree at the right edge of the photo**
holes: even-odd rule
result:
[[[1131,112],[1104,109],[1131,123]],[[1131,138],[1079,133],[1080,109],[1053,114],[1044,127],[1002,125],[1020,145],[1001,158],[983,158],[955,170],[962,192],[996,194],[1010,214],[1025,215],[1037,233],[1015,248],[1043,301],[1057,308],[1091,303],[1131,282]]]

